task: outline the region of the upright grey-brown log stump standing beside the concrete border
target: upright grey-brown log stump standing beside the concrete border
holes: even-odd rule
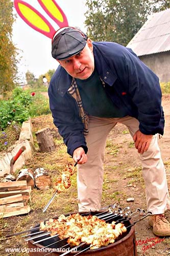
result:
[[[35,135],[41,152],[51,152],[55,150],[53,135],[49,127],[39,130]]]

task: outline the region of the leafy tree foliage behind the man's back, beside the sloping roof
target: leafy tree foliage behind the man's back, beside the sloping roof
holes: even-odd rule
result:
[[[152,12],[169,8],[166,0],[86,0],[87,34],[92,40],[126,46]]]

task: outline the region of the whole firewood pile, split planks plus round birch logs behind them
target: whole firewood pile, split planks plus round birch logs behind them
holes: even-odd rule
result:
[[[51,185],[51,177],[43,168],[37,168],[35,172],[21,169],[16,178],[11,174],[4,175],[0,179],[0,218],[28,214],[32,189],[48,189]]]

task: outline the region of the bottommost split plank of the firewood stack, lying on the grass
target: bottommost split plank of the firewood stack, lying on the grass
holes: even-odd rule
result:
[[[0,218],[7,218],[16,215],[28,214],[31,208],[29,205],[22,206],[22,207],[12,207],[12,209],[7,208],[5,212],[0,212]]]

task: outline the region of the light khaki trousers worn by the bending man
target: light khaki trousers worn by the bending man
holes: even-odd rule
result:
[[[116,123],[125,124],[131,136],[139,130],[139,122],[130,116],[124,118],[89,117],[86,136],[88,146],[85,164],[78,165],[78,205],[79,211],[101,208],[103,186],[103,163],[106,139]],[[170,209],[165,168],[158,146],[157,135],[153,136],[147,152],[139,154],[145,182],[147,208],[153,214],[162,214]]]

